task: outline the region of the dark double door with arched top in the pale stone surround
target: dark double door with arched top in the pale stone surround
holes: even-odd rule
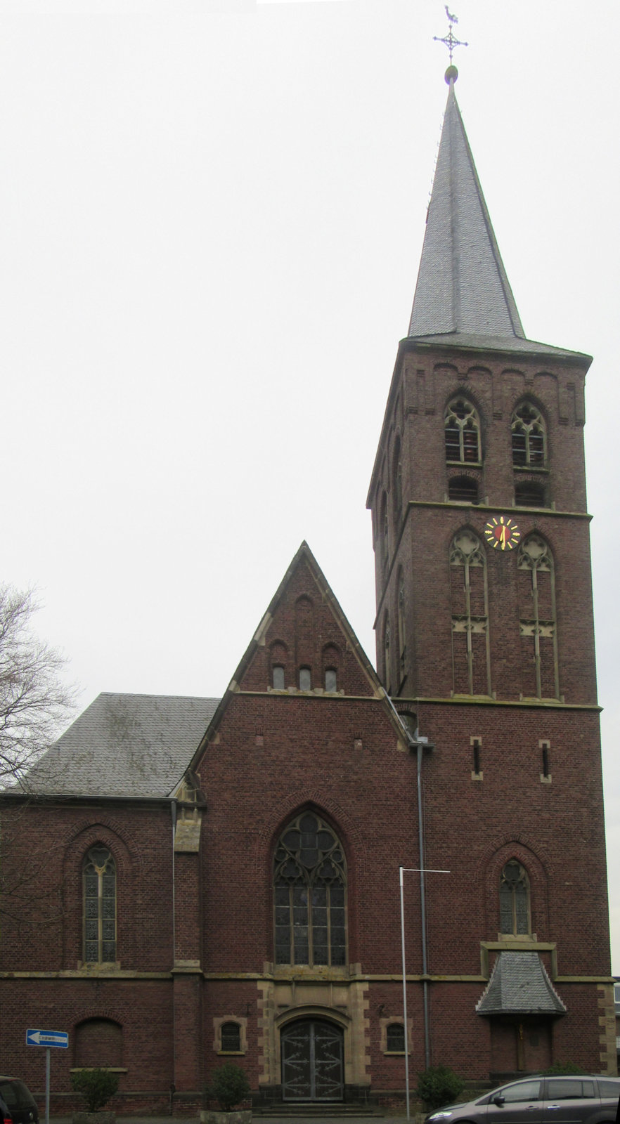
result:
[[[284,1100],[342,1100],[343,1035],[334,1023],[303,1018],[280,1033]]]

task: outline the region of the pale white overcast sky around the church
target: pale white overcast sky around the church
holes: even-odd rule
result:
[[[617,6],[456,11],[457,96],[525,333],[595,356],[620,973]],[[219,695],[303,538],[374,659],[365,502],[447,27],[440,0],[0,0],[1,572],[38,587],[81,706]]]

